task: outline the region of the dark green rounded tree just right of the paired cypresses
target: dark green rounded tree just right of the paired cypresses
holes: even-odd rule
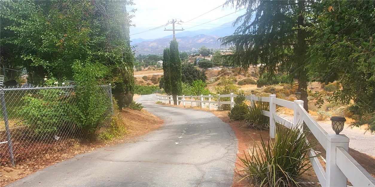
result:
[[[202,80],[203,82],[205,82],[207,79],[204,71],[199,71],[198,69],[196,69],[196,67],[193,66],[193,64],[183,64],[181,72],[181,81],[190,85],[195,80]]]

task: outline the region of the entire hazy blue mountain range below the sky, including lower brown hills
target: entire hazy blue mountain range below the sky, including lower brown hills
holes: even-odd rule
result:
[[[210,49],[218,49],[221,46],[221,42],[218,39],[223,36],[231,35],[236,30],[236,27],[232,27],[233,22],[234,21],[227,22],[211,29],[179,32],[176,34],[178,48],[180,51],[193,51],[204,45]],[[172,37],[173,35],[157,39],[138,38],[132,39],[130,44],[135,46],[136,55],[145,53],[161,54],[163,49],[169,46]]]

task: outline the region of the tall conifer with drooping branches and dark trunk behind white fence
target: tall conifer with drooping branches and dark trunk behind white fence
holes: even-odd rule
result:
[[[234,24],[243,21],[234,35],[221,38],[223,45],[235,45],[231,59],[242,67],[265,64],[264,71],[270,76],[276,70],[296,75],[302,92],[304,108],[308,110],[307,82],[308,43],[312,34],[303,29],[309,25],[308,10],[315,1],[261,1],[228,0],[237,9],[246,8],[246,13]]]

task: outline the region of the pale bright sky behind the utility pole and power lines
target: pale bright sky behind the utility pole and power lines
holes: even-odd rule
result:
[[[181,21],[189,21],[199,15],[202,15],[220,5],[225,3],[225,0],[134,0],[135,5],[128,7],[130,9],[137,9],[132,18],[132,24],[135,27],[130,27],[130,39],[155,39],[163,36],[172,34],[172,31],[164,31],[164,26],[156,30],[140,33],[155,27],[166,24],[172,18],[181,19]],[[235,20],[238,16],[245,13],[246,10],[240,10],[236,12],[233,7],[220,6],[217,9],[212,10],[190,22],[186,22],[183,25],[176,25],[176,29],[184,28],[186,31],[194,31],[199,29],[210,29],[212,27],[218,27],[226,22]],[[236,12],[236,13],[233,13]],[[231,15],[228,15],[233,13]],[[228,16],[225,16],[228,15]],[[225,16],[223,18],[220,18]],[[211,21],[213,19],[215,21]],[[208,22],[211,21],[211,22]],[[207,24],[193,27],[193,25],[199,25],[201,23],[208,22]],[[210,25],[211,24],[211,25]],[[217,24],[217,25],[216,25]],[[166,29],[171,28],[172,25],[166,26]],[[176,31],[176,33],[181,31]],[[140,34],[136,34],[140,33]],[[133,34],[133,35],[132,35]]]

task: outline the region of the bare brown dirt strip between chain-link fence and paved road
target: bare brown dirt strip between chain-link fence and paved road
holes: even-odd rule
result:
[[[88,153],[101,147],[107,147],[115,144],[126,143],[132,141],[136,136],[144,135],[151,130],[159,128],[163,121],[153,114],[142,110],[136,111],[131,109],[124,109],[121,112],[127,124],[127,133],[118,139],[110,142],[105,141],[79,141],[75,140],[73,145],[64,151],[48,151],[43,156],[34,157],[34,159],[27,162],[17,164],[15,167],[1,166],[0,167],[0,186],[6,186],[14,181],[20,180],[40,169],[51,166],[55,163],[70,159],[75,155],[81,153]]]

